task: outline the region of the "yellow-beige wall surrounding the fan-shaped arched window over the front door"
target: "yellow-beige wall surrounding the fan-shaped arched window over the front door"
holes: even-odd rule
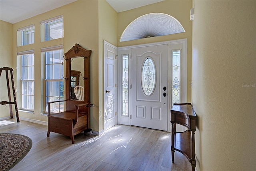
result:
[[[158,2],[155,4],[150,4],[147,6],[142,6],[140,8],[136,8],[133,10],[128,10],[124,12],[118,13],[118,47],[122,46],[130,46],[130,45],[137,45],[137,44],[147,44],[153,42],[164,42],[169,40],[178,40],[178,39],[188,39],[188,86],[187,86],[187,101],[191,101],[191,35],[192,35],[192,25],[190,21],[190,9],[192,7],[191,0],[165,0],[162,2]],[[124,29],[136,18],[149,14],[149,13],[164,13],[176,18],[180,24],[185,29],[186,33],[180,34],[171,34],[166,36],[158,36],[152,38],[144,38],[126,42],[119,42],[120,36]]]

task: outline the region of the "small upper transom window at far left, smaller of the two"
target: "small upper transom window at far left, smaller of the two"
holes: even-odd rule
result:
[[[17,30],[17,46],[34,44],[35,27],[34,24]]]

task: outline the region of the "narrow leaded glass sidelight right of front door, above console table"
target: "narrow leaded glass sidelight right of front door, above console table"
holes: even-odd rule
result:
[[[180,103],[180,50],[172,51],[172,105]]]

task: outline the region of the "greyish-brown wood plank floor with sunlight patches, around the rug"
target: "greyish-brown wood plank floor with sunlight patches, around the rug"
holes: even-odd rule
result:
[[[101,136],[80,133],[70,137],[50,133],[46,125],[28,121],[0,125],[0,133],[30,137],[28,154],[11,171],[190,171],[184,155],[171,157],[171,134],[164,131],[116,125]]]

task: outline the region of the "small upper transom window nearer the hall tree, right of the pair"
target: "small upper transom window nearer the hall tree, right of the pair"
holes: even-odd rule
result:
[[[63,16],[41,22],[41,42],[63,38]]]

